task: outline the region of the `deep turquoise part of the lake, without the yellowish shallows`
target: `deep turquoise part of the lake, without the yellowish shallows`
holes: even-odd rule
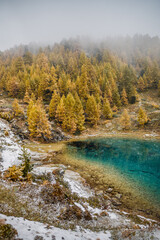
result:
[[[72,156],[114,168],[160,206],[160,141],[103,138],[68,144]]]

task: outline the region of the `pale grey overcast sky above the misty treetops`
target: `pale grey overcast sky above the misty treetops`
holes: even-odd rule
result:
[[[160,0],[0,0],[0,50],[136,33],[160,36]]]

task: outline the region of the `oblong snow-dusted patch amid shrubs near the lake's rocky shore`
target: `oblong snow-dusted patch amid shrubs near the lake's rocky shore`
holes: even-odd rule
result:
[[[66,170],[64,173],[64,181],[68,183],[71,192],[76,193],[79,197],[89,198],[93,196],[91,189],[84,186],[84,179],[79,173]]]

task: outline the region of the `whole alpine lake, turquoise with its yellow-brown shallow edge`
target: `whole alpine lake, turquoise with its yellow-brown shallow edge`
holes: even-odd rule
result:
[[[75,140],[67,143],[67,152],[77,161],[102,168],[110,183],[113,180],[119,189],[131,193],[132,204],[134,198],[135,204],[139,199],[147,209],[159,212],[160,140],[124,137]]]

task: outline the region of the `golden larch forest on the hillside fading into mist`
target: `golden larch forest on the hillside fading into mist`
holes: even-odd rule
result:
[[[112,119],[148,89],[158,88],[160,96],[159,53],[160,39],[149,36],[99,43],[71,39],[54,46],[30,44],[1,52],[0,90],[16,98],[7,118],[23,117],[27,111],[32,137],[50,138],[51,120],[66,132],[80,133],[86,124],[96,126],[100,119]],[[139,124],[146,123],[140,108]],[[129,126],[123,117],[122,125]]]

